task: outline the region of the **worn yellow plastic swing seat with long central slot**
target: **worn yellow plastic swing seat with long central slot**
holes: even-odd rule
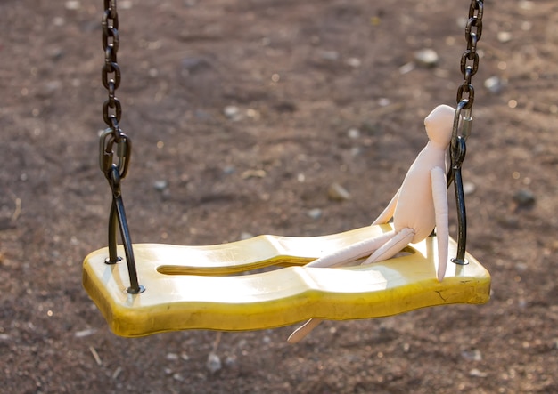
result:
[[[265,329],[308,318],[381,318],[424,307],[488,302],[490,275],[470,254],[467,265],[448,261],[446,277],[438,281],[436,237],[366,266],[304,266],[390,229],[385,224],[324,237],[259,236],[223,245],[136,244],[137,274],[145,287],[137,294],[127,293],[126,261],[106,264],[108,250],[103,248],[86,257],[83,285],[112,332],[126,337],[185,329]],[[455,251],[450,239],[449,255]]]

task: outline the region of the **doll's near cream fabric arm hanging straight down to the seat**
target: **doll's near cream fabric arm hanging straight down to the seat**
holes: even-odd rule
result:
[[[436,236],[438,238],[438,280],[446,276],[447,247],[449,243],[446,173],[440,167],[431,169],[432,198],[436,214]]]

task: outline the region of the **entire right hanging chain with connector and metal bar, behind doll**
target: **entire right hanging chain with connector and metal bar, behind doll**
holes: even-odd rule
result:
[[[464,76],[464,82],[457,89],[457,108],[455,109],[452,139],[449,148],[451,169],[449,173],[447,173],[447,186],[449,187],[451,182],[454,182],[458,221],[457,254],[452,261],[461,265],[467,264],[467,260],[465,259],[467,215],[465,211],[461,165],[464,162],[466,153],[465,141],[469,137],[472,129],[472,103],[475,97],[475,90],[472,86],[472,76],[479,70],[477,44],[482,35],[483,7],[484,3],[482,0],[472,0],[469,6],[469,19],[465,25],[467,49],[461,57],[461,73]]]

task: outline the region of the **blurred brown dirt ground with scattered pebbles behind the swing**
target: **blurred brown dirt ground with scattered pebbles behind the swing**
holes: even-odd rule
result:
[[[426,141],[423,117],[455,105],[458,3],[119,0],[134,242],[373,221]],[[120,338],[88,298],[81,264],[106,245],[111,204],[97,165],[102,8],[0,3],[0,391],[558,391],[554,0],[486,4],[464,180],[491,301],[326,322],[297,345],[295,326]],[[435,67],[414,60],[425,48]],[[334,182],[350,199],[328,198]]]

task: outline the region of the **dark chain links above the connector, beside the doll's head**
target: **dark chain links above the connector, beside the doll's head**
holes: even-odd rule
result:
[[[472,0],[469,6],[469,20],[465,26],[465,40],[467,50],[461,57],[461,73],[464,82],[457,89],[457,103],[466,100],[464,109],[471,109],[475,99],[475,90],[472,86],[472,76],[479,70],[479,53],[477,43],[482,36],[482,13],[484,11],[482,0]]]

